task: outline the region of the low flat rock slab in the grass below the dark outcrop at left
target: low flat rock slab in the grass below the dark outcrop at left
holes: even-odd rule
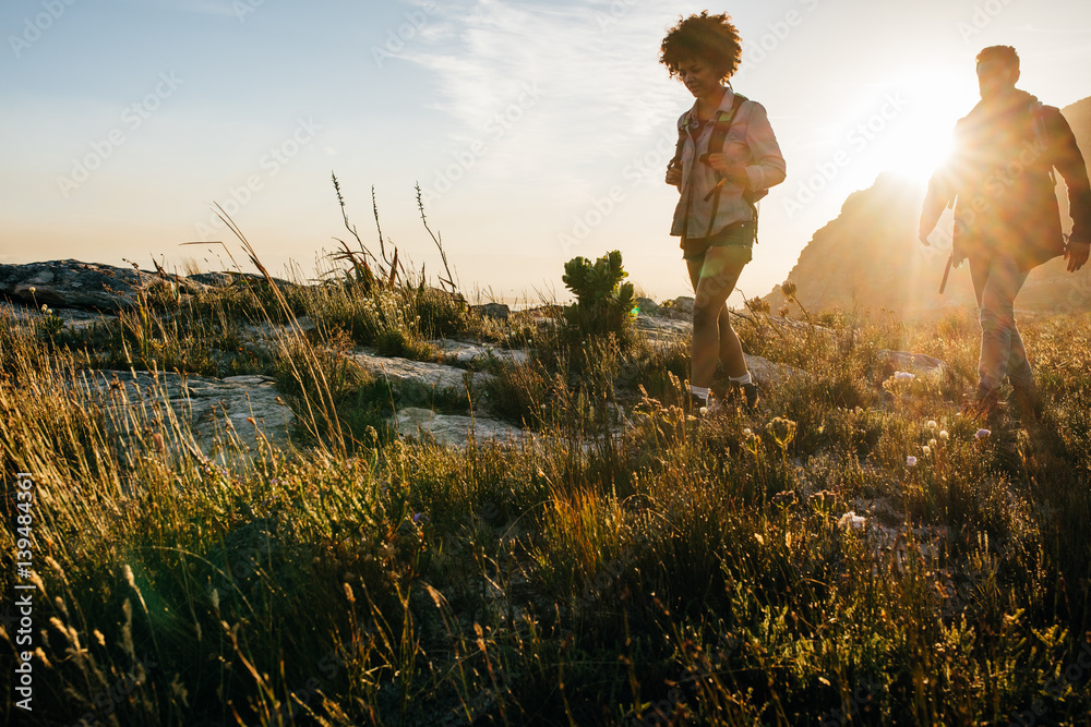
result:
[[[206,456],[215,453],[217,439],[223,438],[226,428],[233,429],[239,440],[251,449],[259,446],[261,435],[277,447],[290,444],[288,427],[293,415],[286,404],[277,401],[278,395],[269,376],[212,378],[166,372],[155,375],[144,371],[135,374],[87,371],[82,375],[85,389],[106,409],[169,402],[175,416],[189,426]]]

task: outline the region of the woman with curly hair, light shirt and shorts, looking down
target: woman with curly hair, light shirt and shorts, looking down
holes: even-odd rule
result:
[[[679,189],[671,234],[681,237],[693,282],[690,400],[708,405],[717,360],[747,407],[757,403],[726,302],[757,234],[755,201],[784,181],[784,158],[765,108],[734,93],[728,80],[742,58],[739,32],[727,13],[691,15],[663,38],[660,62],[696,101],[679,119],[679,146],[667,183]]]

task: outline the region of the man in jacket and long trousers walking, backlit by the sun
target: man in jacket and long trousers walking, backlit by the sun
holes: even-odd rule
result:
[[[944,209],[955,207],[951,260],[970,262],[981,320],[978,390],[966,413],[988,417],[1004,377],[1024,417],[1038,415],[1027,351],[1014,303],[1031,269],[1064,255],[1076,272],[1091,243],[1091,185],[1072,130],[1060,111],[1016,88],[1019,56],[1009,46],[978,54],[981,102],[955,126],[948,162],[928,183],[921,242]],[[1072,233],[1065,244],[1055,193],[1056,168],[1068,184]]]

